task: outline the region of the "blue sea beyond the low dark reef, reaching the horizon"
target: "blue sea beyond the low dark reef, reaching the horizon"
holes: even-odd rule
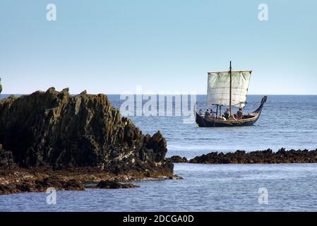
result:
[[[111,95],[120,106],[119,95]],[[253,112],[262,96],[249,95],[244,112]],[[197,96],[197,109],[205,109],[206,96]],[[214,109],[215,110],[215,109]],[[168,156],[195,157],[210,151],[317,148],[317,95],[270,95],[260,119],[253,126],[198,128],[184,124],[184,117],[131,117],[144,133],[158,129],[167,138]]]

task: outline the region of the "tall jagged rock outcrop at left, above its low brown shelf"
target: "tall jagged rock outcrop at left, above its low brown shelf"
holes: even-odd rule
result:
[[[85,91],[72,96],[49,88],[0,100],[0,143],[11,150],[0,153],[2,165],[10,165],[12,156],[20,167],[99,167],[148,177],[173,172],[160,131],[143,135],[106,95]]]

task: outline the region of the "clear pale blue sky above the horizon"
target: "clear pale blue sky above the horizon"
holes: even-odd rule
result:
[[[268,21],[258,20],[261,3]],[[249,94],[317,94],[316,12],[315,0],[1,0],[3,93],[202,94],[207,71],[232,60],[253,70]]]

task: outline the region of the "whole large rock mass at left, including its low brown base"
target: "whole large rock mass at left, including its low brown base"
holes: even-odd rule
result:
[[[0,100],[0,194],[178,179],[166,153],[160,131],[144,135],[103,94],[49,88]]]

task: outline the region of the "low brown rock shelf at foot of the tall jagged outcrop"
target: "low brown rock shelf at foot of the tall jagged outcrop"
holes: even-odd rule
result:
[[[131,189],[139,187],[130,184],[131,182],[163,179],[181,179],[181,177],[155,174],[152,177],[145,177],[141,173],[112,174],[101,172],[100,169],[93,167],[59,170],[52,169],[52,167],[32,169],[13,167],[11,169],[0,169],[0,195],[20,192],[45,192],[48,188],[61,191]]]

